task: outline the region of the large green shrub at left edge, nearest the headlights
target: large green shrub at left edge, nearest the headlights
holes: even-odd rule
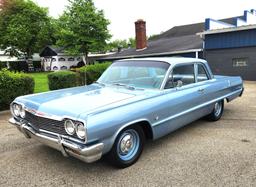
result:
[[[32,94],[34,79],[24,73],[0,71],[0,110],[8,109],[10,103],[18,96]]]

